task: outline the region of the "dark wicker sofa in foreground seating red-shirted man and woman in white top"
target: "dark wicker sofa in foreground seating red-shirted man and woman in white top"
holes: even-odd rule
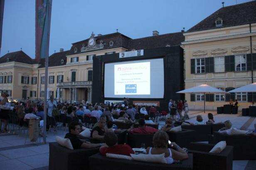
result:
[[[163,164],[163,163],[146,163],[135,160],[124,160],[107,158],[97,153],[90,156],[91,170],[192,170],[193,155],[183,160],[182,163]]]

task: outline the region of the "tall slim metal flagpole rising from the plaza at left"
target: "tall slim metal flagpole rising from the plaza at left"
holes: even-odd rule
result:
[[[46,144],[46,122],[47,122],[47,85],[48,85],[48,60],[49,60],[49,40],[50,40],[50,22],[51,22],[51,0],[47,0],[47,15],[49,19],[47,27],[47,45],[46,45],[46,56],[45,56],[45,74],[44,74],[44,144]]]

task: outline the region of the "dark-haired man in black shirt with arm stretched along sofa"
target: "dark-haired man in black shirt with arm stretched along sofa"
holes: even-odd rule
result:
[[[102,146],[99,144],[91,144],[90,142],[83,141],[77,137],[80,134],[80,125],[79,122],[73,121],[69,124],[69,133],[66,134],[65,138],[68,138],[71,141],[71,144],[74,149],[80,148],[95,148]]]

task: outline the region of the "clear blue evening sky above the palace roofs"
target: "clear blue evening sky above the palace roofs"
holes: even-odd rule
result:
[[[130,38],[185,31],[224,6],[251,0],[52,0],[49,55],[97,34]],[[5,0],[2,47],[35,57],[35,0]]]

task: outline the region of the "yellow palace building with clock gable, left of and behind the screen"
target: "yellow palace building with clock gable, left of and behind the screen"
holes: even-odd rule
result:
[[[38,62],[23,51],[7,53],[0,58],[0,93],[7,91],[12,99],[42,99],[54,96],[60,101],[92,101],[93,57],[130,50],[180,45],[182,32],[132,39],[121,33],[98,34],[72,44],[70,50],[49,56],[48,86],[44,92],[44,59]],[[98,89],[101,90],[101,89]]]

